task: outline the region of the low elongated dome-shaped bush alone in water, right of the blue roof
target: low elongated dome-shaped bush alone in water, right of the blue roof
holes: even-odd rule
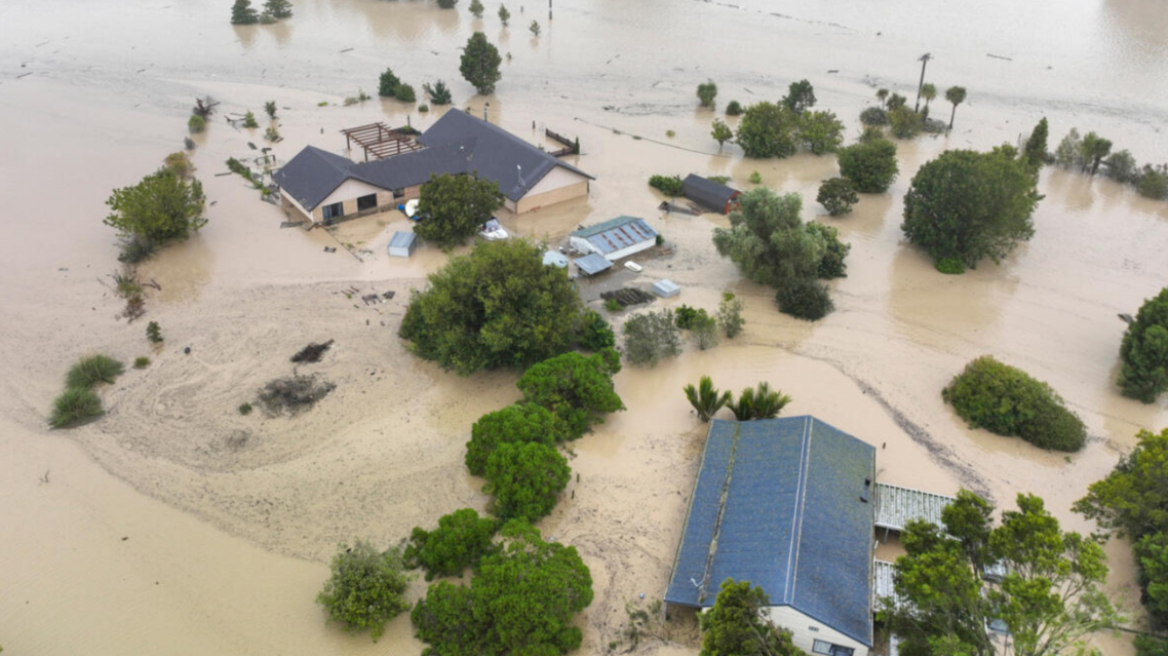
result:
[[[1086,441],[1083,421],[1066,410],[1050,385],[990,356],[967,364],[941,391],[941,398],[972,428],[1017,435],[1054,451],[1075,452]]]

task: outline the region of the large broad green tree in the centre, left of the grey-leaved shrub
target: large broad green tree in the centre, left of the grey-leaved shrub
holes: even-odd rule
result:
[[[522,239],[486,242],[430,274],[399,334],[418,356],[467,376],[566,351],[579,312],[568,272],[544,266],[540,247]]]

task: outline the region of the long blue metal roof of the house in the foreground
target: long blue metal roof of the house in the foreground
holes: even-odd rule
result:
[[[870,647],[875,476],[870,445],[813,417],[712,420],[665,600],[746,580]]]

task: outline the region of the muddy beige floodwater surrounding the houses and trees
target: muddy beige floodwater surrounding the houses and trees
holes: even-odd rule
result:
[[[514,372],[459,378],[412,357],[396,337],[409,289],[447,256],[420,249],[390,260],[408,225],[397,212],[334,231],[281,229],[229,156],[253,156],[258,131],[227,112],[279,105],[286,161],[305,145],[342,152],[342,127],[374,121],[425,128],[376,95],[392,67],[419,97],[445,79],[456,106],[542,144],[548,127],[578,135],[573,163],[597,176],[586,200],[523,216],[513,231],[561,243],[579,224],[642,216],[673,247],[631,281],[670,278],[686,302],[745,300],[746,329],[712,350],[687,346],[654,369],[626,368],[628,410],[571,445],[578,473],[545,536],[577,546],[596,601],[582,615],[582,654],[617,637],[625,601],[662,593],[697,470],[704,426],[681,386],[711,375],[722,388],[769,381],[812,413],[878,449],[880,480],[941,494],[959,487],[1010,504],[1037,493],[1064,525],[1140,428],[1168,425],[1164,400],[1142,405],[1112,384],[1124,324],[1168,280],[1168,203],[1107,180],[1045,170],[1036,235],[1001,265],[937,273],[902,240],[912,174],[946,148],[1015,142],[1043,116],[1051,147],[1072,126],[1096,131],[1142,163],[1168,160],[1168,9],[1161,0],[944,4],[924,0],[556,0],[498,2],[482,20],[422,0],[293,0],[273,26],[232,27],[228,0],[5,0],[0,4],[0,644],[14,655],[416,654],[406,617],[378,643],[326,626],[313,598],[340,542],[390,545],[451,510],[482,509],[481,480],[463,467],[482,413],[519,397]],[[542,23],[542,35],[527,29]],[[459,47],[485,32],[505,53],[502,81],[474,96]],[[913,98],[927,81],[968,89],[952,133],[899,142],[901,176],[844,218],[822,216],[819,182],[833,158],[751,161],[709,138],[715,114],[694,88],[711,78],[718,106],[781,97],[808,78],[819,106],[858,134],[877,86]],[[121,301],[105,198],[180,149],[196,96],[222,102],[196,135],[194,163],[209,223],[140,267],[147,315],[117,319]],[[324,104],[324,105],[322,105]],[[489,104],[489,106],[488,106]],[[938,98],[934,117],[950,106]],[[732,120],[731,120],[732,123]],[[667,131],[674,133],[667,135]],[[804,195],[804,218],[851,244],[836,312],[816,323],[779,314],[772,292],[744,281],[710,242],[716,215],[662,216],[652,174],[730,176]],[[350,253],[343,246],[352,246]],[[325,246],[340,246],[325,252]],[[366,306],[361,294],[396,292]],[[584,288],[585,295],[589,288]],[[597,306],[599,307],[599,306]],[[146,320],[162,326],[151,347]],[[624,316],[616,317],[617,321]],[[336,391],[296,419],[242,417],[255,390],[292,371],[310,341],[335,340],[306,365]],[[183,349],[189,347],[189,355]],[[107,414],[49,431],[47,414],[78,356],[150,356],[100,391]],[[1049,382],[1085,420],[1090,440],[1065,458],[971,431],[939,391],[971,358],[993,354]],[[881,553],[895,557],[896,545]],[[1107,546],[1108,589],[1139,617],[1127,545]],[[417,582],[411,594],[424,591]],[[1098,636],[1105,652],[1126,638]],[[693,640],[642,651],[697,652]]]

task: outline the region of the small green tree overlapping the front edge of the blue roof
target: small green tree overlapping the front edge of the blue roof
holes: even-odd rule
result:
[[[771,623],[771,600],[750,581],[722,581],[714,607],[697,616],[702,627],[701,656],[804,656],[791,631]]]

